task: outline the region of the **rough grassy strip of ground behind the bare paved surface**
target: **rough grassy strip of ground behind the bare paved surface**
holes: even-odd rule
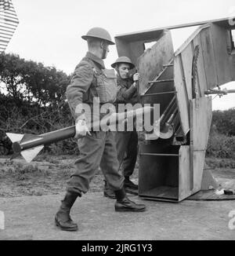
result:
[[[0,158],[0,197],[56,195],[64,192],[66,182],[75,170],[75,159],[67,155],[42,155],[33,162],[26,163],[21,158]],[[211,172],[215,178],[235,179],[235,169],[227,168],[228,164],[223,159],[220,162],[218,159],[208,159],[208,163],[212,166]],[[131,177],[136,183],[138,170],[139,166],[136,163],[136,170]],[[103,174],[97,170],[89,192],[102,191]]]

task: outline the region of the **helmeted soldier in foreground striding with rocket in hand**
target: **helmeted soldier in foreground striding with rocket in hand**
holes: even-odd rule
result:
[[[87,35],[81,38],[88,43],[88,53],[74,70],[71,85],[67,86],[67,100],[71,114],[76,123],[79,155],[75,162],[77,170],[67,182],[67,192],[56,213],[56,225],[62,230],[76,231],[78,225],[71,220],[70,211],[77,197],[88,192],[89,183],[100,166],[110,188],[114,190],[117,201],[116,211],[143,211],[145,205],[136,204],[128,199],[123,188],[124,177],[118,172],[117,149],[114,133],[110,131],[89,131],[88,116],[85,112],[78,112],[82,104],[89,104],[93,109],[93,100],[98,98],[100,104],[114,102],[117,83],[114,75],[108,75],[103,64],[107,57],[109,45],[114,45],[110,34],[101,27],[93,27]]]

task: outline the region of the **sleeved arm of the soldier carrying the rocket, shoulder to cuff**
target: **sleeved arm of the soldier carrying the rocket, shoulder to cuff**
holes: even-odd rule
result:
[[[86,63],[78,64],[72,76],[71,85],[67,86],[66,92],[67,101],[75,120],[85,119],[85,115],[81,114],[79,109],[82,109],[83,95],[89,90],[92,80],[93,71],[91,66]]]

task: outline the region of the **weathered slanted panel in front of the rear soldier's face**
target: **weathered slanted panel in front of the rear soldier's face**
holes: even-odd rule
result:
[[[156,42],[152,49],[146,49],[138,59],[138,71],[140,75],[139,93],[143,94],[149,87],[149,81],[161,72],[164,64],[172,60],[174,54],[172,36],[169,31]],[[172,79],[170,77],[169,79]]]

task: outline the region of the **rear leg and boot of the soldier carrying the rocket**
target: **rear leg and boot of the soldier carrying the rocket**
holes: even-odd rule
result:
[[[89,190],[89,183],[96,174],[103,155],[104,143],[103,132],[94,132],[78,141],[80,154],[75,162],[77,170],[67,182],[67,193],[55,217],[56,225],[62,230],[78,230],[78,225],[71,220],[71,207],[78,196]]]

